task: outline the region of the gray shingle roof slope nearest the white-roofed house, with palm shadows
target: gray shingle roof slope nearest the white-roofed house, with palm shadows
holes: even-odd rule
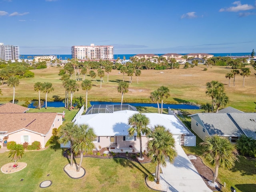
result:
[[[241,136],[242,132],[226,113],[198,113],[210,135]],[[256,124],[256,123],[255,123]]]

